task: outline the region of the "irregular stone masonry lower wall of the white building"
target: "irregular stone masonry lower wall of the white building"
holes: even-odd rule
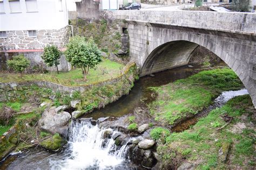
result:
[[[0,38],[0,51],[12,49],[43,49],[48,44],[63,48],[69,40],[69,27],[59,30],[37,30],[37,37],[29,37],[28,31],[6,31],[6,38]]]

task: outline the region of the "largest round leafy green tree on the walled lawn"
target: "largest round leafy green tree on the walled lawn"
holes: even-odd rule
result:
[[[102,54],[92,38],[85,41],[83,37],[76,36],[70,39],[66,47],[66,60],[72,66],[82,69],[84,79],[86,79],[89,69],[95,68],[102,61]]]

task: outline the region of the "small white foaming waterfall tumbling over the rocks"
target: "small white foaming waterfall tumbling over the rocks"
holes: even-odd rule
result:
[[[113,169],[125,161],[126,145],[117,150],[112,138],[104,138],[105,131],[90,122],[73,121],[70,126],[68,148],[62,160],[51,161],[51,169]]]

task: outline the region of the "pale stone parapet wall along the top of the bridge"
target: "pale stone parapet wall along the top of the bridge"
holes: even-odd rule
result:
[[[256,15],[245,12],[211,11],[100,11],[105,19],[135,20],[152,24],[190,27],[240,34],[256,34]],[[254,39],[255,40],[255,39]]]

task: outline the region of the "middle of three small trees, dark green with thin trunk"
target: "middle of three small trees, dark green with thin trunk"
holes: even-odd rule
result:
[[[62,52],[60,52],[55,45],[52,45],[44,47],[44,53],[41,57],[48,67],[55,66],[57,73],[59,74],[58,65],[60,55],[62,55]]]

